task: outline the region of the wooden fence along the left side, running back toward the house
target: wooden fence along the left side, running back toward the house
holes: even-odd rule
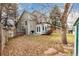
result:
[[[3,49],[8,39],[21,35],[24,35],[24,33],[17,33],[15,27],[11,28],[11,30],[5,30],[3,25],[0,24],[0,55],[3,55]]]

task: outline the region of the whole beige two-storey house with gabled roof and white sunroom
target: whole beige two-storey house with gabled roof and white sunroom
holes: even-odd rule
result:
[[[50,18],[40,12],[24,11],[17,22],[17,32],[30,34],[46,34],[51,30]]]

